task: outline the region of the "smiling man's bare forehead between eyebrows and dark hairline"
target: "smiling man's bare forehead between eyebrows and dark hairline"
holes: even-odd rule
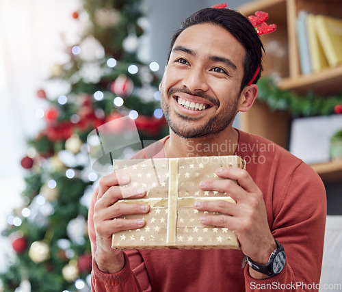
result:
[[[241,67],[246,55],[244,46],[229,31],[211,23],[201,23],[184,29],[174,42],[174,47],[177,46],[186,47],[200,57],[228,57]]]

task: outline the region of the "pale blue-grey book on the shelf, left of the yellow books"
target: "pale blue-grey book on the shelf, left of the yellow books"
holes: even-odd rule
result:
[[[308,31],[306,27],[306,17],[308,12],[301,10],[298,12],[298,17],[295,21],[297,28],[298,51],[300,55],[300,69],[303,75],[308,75],[312,72],[310,48],[308,44]]]

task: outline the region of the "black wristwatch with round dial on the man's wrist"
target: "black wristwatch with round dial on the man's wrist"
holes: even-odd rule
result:
[[[274,276],[279,274],[280,271],[285,266],[286,262],[286,254],[285,250],[278,241],[276,241],[277,249],[272,252],[269,256],[268,263],[266,265],[260,265],[259,263],[255,263],[248,256],[246,256],[247,263],[254,269],[255,271],[259,271],[262,274],[267,276]]]

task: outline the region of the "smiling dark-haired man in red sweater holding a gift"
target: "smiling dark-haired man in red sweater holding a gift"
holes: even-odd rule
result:
[[[238,12],[207,8],[187,18],[172,38],[159,88],[170,136],[161,140],[163,150],[151,146],[137,155],[245,159],[247,170],[219,168],[216,174],[224,180],[200,183],[203,190],[226,192],[237,204],[194,206],[222,213],[201,217],[201,222],[234,230],[241,250],[112,249],[113,233],[145,224],[113,219],[132,213],[143,217],[149,206],[120,204],[118,184],[130,178],[109,174],[101,178],[89,211],[94,291],[298,291],[319,282],[324,185],[286,150],[232,127],[237,112],[248,111],[257,96],[262,50],[254,27]],[[208,152],[208,144],[226,147]],[[145,193],[132,188],[131,195],[142,198]],[[244,255],[248,265],[242,269]]]

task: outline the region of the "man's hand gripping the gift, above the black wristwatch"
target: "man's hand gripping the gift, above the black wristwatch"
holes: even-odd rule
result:
[[[219,168],[216,174],[220,181],[202,181],[200,188],[206,191],[222,191],[237,203],[226,201],[196,202],[200,211],[215,211],[224,215],[205,215],[201,222],[205,225],[222,226],[235,232],[241,250],[252,261],[265,265],[270,254],[276,249],[276,242],[267,223],[267,213],[263,194],[252,177],[237,168]],[[235,182],[237,181],[237,183]],[[254,278],[267,278],[250,268]]]

